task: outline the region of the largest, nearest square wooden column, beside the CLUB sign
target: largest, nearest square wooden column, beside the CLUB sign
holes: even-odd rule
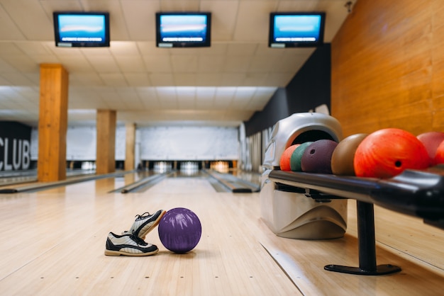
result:
[[[66,178],[68,72],[60,64],[40,64],[38,181]]]

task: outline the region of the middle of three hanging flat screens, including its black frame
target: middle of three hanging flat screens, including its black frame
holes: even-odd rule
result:
[[[157,47],[210,47],[211,13],[156,13]]]

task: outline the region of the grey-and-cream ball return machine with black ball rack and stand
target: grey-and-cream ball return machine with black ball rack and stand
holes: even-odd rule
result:
[[[444,229],[444,165],[427,171],[406,170],[388,179],[281,171],[282,152],[292,144],[321,139],[339,142],[338,120],[321,113],[295,113],[274,125],[265,150],[261,179],[262,220],[279,237],[335,239],[347,227],[347,200],[357,201],[359,266],[328,264],[327,271],[385,275],[401,271],[377,265],[374,205]]]

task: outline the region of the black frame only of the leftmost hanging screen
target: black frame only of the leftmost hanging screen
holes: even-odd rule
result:
[[[65,42],[60,39],[59,16],[104,16],[105,39],[101,42],[97,41],[73,41]],[[52,13],[54,23],[54,35],[56,47],[109,47],[109,13],[104,11],[54,11]]]

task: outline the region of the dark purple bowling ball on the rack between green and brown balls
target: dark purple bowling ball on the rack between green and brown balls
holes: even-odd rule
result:
[[[317,140],[302,154],[301,168],[307,173],[332,173],[331,156],[338,143],[333,140]]]

